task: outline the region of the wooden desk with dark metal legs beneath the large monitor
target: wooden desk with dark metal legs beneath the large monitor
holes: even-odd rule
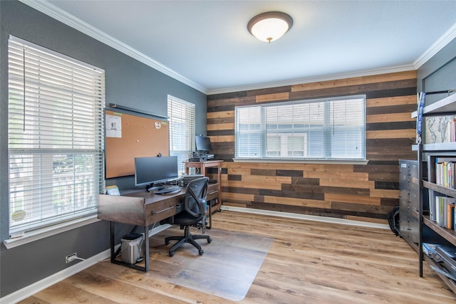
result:
[[[217,192],[217,185],[209,184],[209,192]],[[182,188],[180,192],[164,195],[149,193],[145,190],[129,192],[121,196],[98,194],[98,219],[110,221],[111,263],[149,271],[149,226],[177,214],[183,208],[181,204],[183,204],[184,197],[185,188]],[[115,223],[144,228],[144,267],[115,259]]]

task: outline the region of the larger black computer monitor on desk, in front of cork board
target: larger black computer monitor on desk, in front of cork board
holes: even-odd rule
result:
[[[177,156],[135,157],[136,186],[159,186],[178,179]]]

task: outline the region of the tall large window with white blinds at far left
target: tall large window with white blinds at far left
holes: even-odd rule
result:
[[[104,71],[10,36],[9,233],[96,213]]]

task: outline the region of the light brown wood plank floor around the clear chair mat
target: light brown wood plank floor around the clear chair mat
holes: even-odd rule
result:
[[[274,238],[239,303],[455,303],[455,294],[428,266],[418,276],[417,253],[390,230],[234,211],[213,220],[216,229]],[[103,262],[21,303],[230,301]]]

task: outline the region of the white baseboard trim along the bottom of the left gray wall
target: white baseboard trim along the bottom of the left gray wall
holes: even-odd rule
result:
[[[167,229],[170,226],[171,225],[169,225],[169,224],[165,224],[165,225],[157,226],[154,229],[151,229],[149,231],[149,237],[153,236],[154,234],[159,233],[160,231]],[[120,244],[115,246],[115,250],[117,250],[119,246],[120,246]],[[98,263],[100,261],[105,261],[106,259],[109,259],[109,258],[110,258],[110,249],[107,249],[98,254],[95,254],[95,256],[86,258],[83,261],[80,261],[73,266],[70,266],[61,271],[58,271],[58,273],[54,273],[53,275],[43,278],[40,281],[37,281],[31,285],[28,285],[24,288],[16,290],[14,293],[5,295],[3,298],[0,298],[0,303],[1,304],[18,303],[19,301],[24,300],[28,297],[31,297],[32,295],[40,292],[43,289],[46,289],[60,281],[65,280],[66,278],[68,278],[70,276],[73,276],[74,274],[76,274],[78,272],[83,271],[86,268],[89,268],[90,266],[95,265],[96,263]]]

